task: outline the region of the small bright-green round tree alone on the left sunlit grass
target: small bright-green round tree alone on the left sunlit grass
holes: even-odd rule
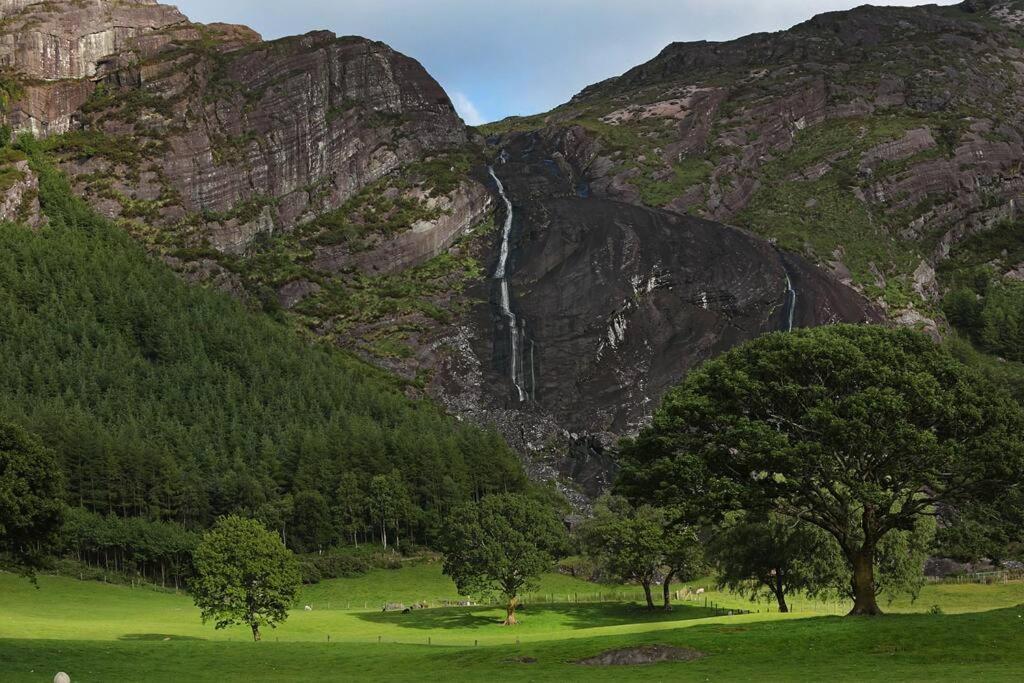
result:
[[[298,560],[260,522],[224,517],[204,535],[194,562],[190,589],[204,623],[247,625],[258,641],[260,627],[288,618],[301,583]]]

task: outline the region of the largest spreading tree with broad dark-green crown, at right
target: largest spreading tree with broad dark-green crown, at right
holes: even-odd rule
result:
[[[623,488],[696,514],[776,511],[836,539],[852,614],[879,614],[876,556],[937,506],[1020,486],[1024,412],[924,335],[768,335],[691,373],[627,444]]]

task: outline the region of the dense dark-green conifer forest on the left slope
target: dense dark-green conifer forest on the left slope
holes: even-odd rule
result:
[[[63,463],[73,554],[167,575],[191,530],[231,512],[299,552],[431,543],[452,506],[526,486],[497,434],[188,287],[20,144],[48,224],[0,229],[0,420]],[[138,539],[160,533],[156,558]]]

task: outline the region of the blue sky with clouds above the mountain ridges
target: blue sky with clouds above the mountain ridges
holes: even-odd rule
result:
[[[677,40],[778,31],[856,0],[164,0],[264,38],[327,29],[419,59],[467,123],[548,111]],[[955,4],[957,0],[936,0]],[[874,4],[919,5],[914,0]]]

